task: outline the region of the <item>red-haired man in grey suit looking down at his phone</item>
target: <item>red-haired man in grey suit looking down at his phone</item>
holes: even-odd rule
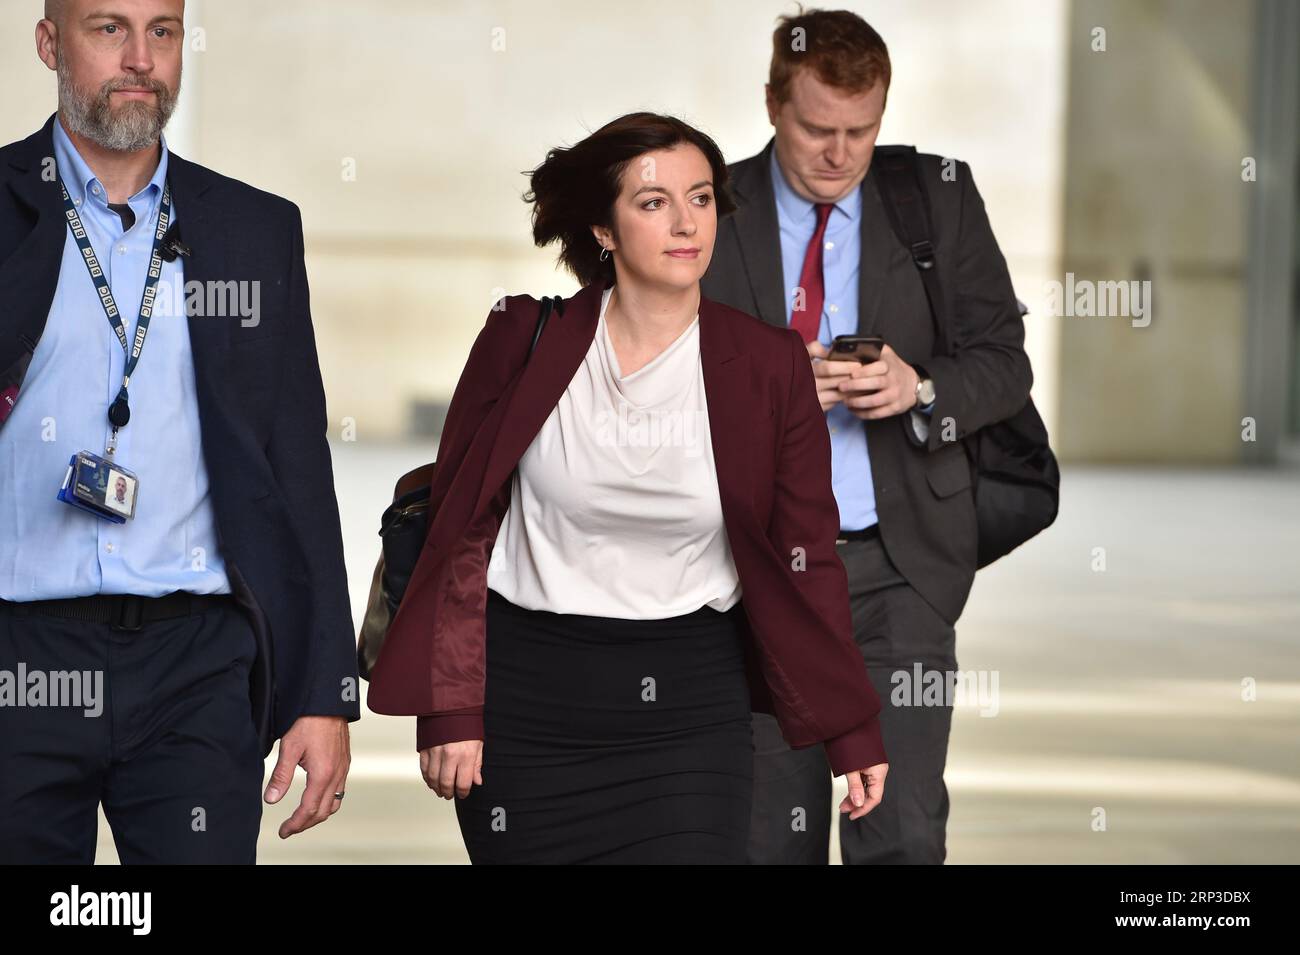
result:
[[[775,136],[731,166],[738,210],[719,223],[702,290],[797,329],[827,413],[838,552],[890,756],[881,804],[840,822],[844,861],[939,864],[952,699],[923,689],[935,672],[950,686],[976,568],[962,439],[1028,400],[1024,329],[970,168],[920,155],[933,262],[962,330],[958,355],[936,353],[924,286],[871,168],[890,78],[879,34],[857,14],[810,10],[783,17],[772,40]],[[822,747],[790,750],[772,717],[753,721],[750,861],[827,863]]]

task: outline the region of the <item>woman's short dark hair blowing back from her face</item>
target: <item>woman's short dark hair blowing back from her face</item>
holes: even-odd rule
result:
[[[736,210],[727,190],[727,161],[722,149],[694,126],[659,113],[628,113],[607,122],[582,142],[556,147],[528,173],[524,201],[533,204],[533,242],[538,247],[559,239],[560,262],[584,286],[614,281],[614,257],[601,261],[601,244],[592,226],[614,227],[614,203],[628,164],[654,149],[690,144],[708,160],[714,175],[718,217]]]

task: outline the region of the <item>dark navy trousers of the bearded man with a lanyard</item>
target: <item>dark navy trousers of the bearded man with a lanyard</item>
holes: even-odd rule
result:
[[[127,631],[30,609],[0,603],[0,672],[22,667],[29,704],[32,673],[64,674],[49,686],[65,693],[0,706],[0,863],[92,863],[100,803],[125,864],[254,863],[263,759],[243,612],[217,602]]]

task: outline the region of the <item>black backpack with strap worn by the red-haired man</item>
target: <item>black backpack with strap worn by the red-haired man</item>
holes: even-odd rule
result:
[[[930,195],[911,146],[878,147],[872,157],[885,214],[911,253],[935,322],[935,353],[961,351],[949,335],[949,313],[935,270],[930,242]],[[1020,316],[1028,309],[1019,304]],[[904,425],[910,422],[905,418]],[[910,437],[910,427],[909,427]],[[1048,429],[1031,398],[1015,414],[980,427],[962,439],[971,465],[975,520],[979,528],[976,567],[1010,554],[1052,526],[1061,505],[1061,469],[1048,443]]]

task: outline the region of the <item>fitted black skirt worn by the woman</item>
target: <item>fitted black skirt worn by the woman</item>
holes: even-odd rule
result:
[[[471,861],[744,864],[742,612],[624,620],[489,590],[484,782],[454,800]]]

